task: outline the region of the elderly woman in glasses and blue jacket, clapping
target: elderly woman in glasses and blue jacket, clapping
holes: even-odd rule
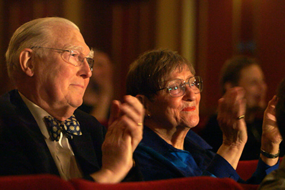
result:
[[[199,122],[202,89],[192,64],[176,52],[149,51],[131,64],[127,93],[145,108],[143,140],[135,151],[144,180],[210,175],[242,182],[235,169],[247,141],[244,90],[234,87],[219,100],[223,144],[216,154],[190,130]],[[260,183],[278,167],[281,137],[268,135],[266,123],[264,128],[261,159],[247,183]]]

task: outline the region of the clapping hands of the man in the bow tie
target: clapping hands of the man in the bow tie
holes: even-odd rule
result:
[[[102,168],[91,174],[95,181],[119,182],[133,166],[133,152],[143,136],[144,109],[139,100],[125,96],[113,101],[109,126],[102,145]]]

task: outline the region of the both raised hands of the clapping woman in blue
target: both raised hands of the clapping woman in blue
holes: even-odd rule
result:
[[[218,101],[217,120],[223,132],[223,144],[217,154],[225,158],[233,168],[237,167],[247,141],[245,119],[238,119],[238,117],[245,115],[246,100],[244,94],[242,87],[234,87],[229,89]],[[282,141],[275,117],[276,103],[277,97],[274,96],[269,101],[263,116],[261,148],[269,154],[277,154],[279,144]],[[260,158],[269,166],[274,166],[278,162],[278,158],[267,158],[262,154],[260,154]]]

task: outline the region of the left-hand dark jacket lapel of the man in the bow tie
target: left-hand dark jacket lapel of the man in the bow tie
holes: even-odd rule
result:
[[[18,138],[23,141],[23,147],[27,152],[27,157],[34,167],[35,173],[51,173],[59,175],[56,164],[50,154],[44,136],[38,127],[36,120],[25,105],[18,91],[10,92],[10,100],[15,113],[15,130],[19,134]]]

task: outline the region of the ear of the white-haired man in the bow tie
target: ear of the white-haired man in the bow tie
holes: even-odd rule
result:
[[[34,62],[32,59],[32,54],[33,51],[31,49],[25,48],[21,51],[19,56],[19,62],[23,72],[30,77],[34,75]]]

